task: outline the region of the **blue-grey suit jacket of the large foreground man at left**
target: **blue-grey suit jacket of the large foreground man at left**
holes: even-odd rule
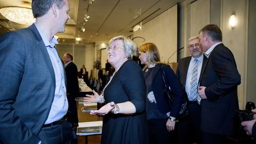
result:
[[[0,143],[38,143],[54,98],[51,59],[34,24],[0,45]]]

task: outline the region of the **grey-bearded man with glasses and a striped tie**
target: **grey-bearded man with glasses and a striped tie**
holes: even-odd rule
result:
[[[177,76],[188,96],[189,115],[179,120],[179,143],[201,143],[201,107],[198,105],[197,85],[207,58],[203,55],[199,37],[188,39],[191,57],[179,60]]]

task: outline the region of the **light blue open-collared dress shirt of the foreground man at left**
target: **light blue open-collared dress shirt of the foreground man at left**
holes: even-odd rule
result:
[[[46,122],[44,123],[44,124],[50,124],[52,122],[60,120],[63,116],[66,115],[68,111],[68,101],[67,101],[67,93],[66,93],[65,78],[64,78],[65,75],[64,75],[62,62],[59,58],[57,50],[54,47],[55,44],[58,44],[58,41],[53,37],[51,39],[51,43],[49,43],[44,33],[42,33],[42,30],[39,28],[38,25],[36,25],[36,23],[35,23],[35,26],[43,39],[46,50],[52,62],[52,67],[54,69],[54,75],[55,75],[54,99],[52,102],[49,116]]]

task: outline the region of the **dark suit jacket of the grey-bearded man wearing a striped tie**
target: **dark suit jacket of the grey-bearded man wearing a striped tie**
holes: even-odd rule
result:
[[[179,60],[176,75],[180,79],[180,83],[183,85],[183,89],[186,91],[186,81],[187,81],[187,74],[188,74],[188,67],[190,63],[191,57],[182,58]],[[205,65],[207,58],[204,55],[202,69]],[[202,69],[200,75],[202,75]]]

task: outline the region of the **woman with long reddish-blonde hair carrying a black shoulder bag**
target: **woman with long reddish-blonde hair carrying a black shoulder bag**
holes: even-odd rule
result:
[[[143,68],[143,75],[146,82],[149,143],[174,143],[175,140],[170,139],[170,132],[174,130],[175,119],[179,116],[185,93],[171,67],[160,62],[159,52],[154,43],[141,45],[139,54],[141,64],[146,65]],[[171,87],[175,96],[172,107],[169,105],[169,98],[163,93],[164,81],[161,67],[165,73],[166,85]]]

